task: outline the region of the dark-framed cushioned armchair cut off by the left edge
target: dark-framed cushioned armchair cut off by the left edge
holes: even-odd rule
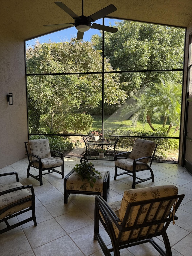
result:
[[[0,181],[2,176],[16,176],[16,182],[8,183],[0,186],[0,234],[18,227],[29,221],[33,221],[34,225],[37,226],[35,217],[35,194],[33,185],[23,186],[19,182],[19,177],[16,172],[11,173],[0,173]],[[25,218],[15,224],[10,224],[9,221],[15,216],[25,214],[25,212],[32,211],[32,216]],[[25,215],[23,215],[25,216]],[[2,226],[1,223],[5,223],[6,227]]]

